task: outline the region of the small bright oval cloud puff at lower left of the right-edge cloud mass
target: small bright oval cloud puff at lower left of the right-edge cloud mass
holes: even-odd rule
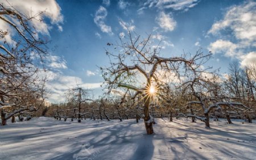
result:
[[[210,43],[208,50],[214,53],[224,53],[227,57],[238,56],[241,53],[237,50],[238,46],[230,41],[217,40]]]

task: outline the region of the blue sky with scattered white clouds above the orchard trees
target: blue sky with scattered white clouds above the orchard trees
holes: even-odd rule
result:
[[[232,61],[241,66],[255,64],[255,1],[57,0],[58,11],[51,10],[53,5],[47,6],[50,2],[44,6],[53,14],[44,18],[49,32],[45,38],[51,40],[51,72],[47,74],[51,102],[63,101],[63,92],[77,83],[92,89],[94,98],[101,94],[103,79],[98,66],[108,65],[106,44],[127,33],[120,22],[139,35],[151,34],[162,41],[162,54],[167,57],[179,56],[183,50],[194,54],[201,47],[205,53],[214,54],[207,65],[221,68],[221,73]]]

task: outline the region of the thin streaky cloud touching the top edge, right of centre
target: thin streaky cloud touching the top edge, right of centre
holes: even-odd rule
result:
[[[199,2],[199,0],[148,0],[144,3],[144,6],[188,11],[188,9],[195,7]]]

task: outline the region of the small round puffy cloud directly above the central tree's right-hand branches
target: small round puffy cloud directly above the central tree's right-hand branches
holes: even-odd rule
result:
[[[176,21],[172,18],[171,14],[165,14],[163,11],[160,12],[156,18],[156,23],[159,24],[164,31],[173,31],[176,27]]]

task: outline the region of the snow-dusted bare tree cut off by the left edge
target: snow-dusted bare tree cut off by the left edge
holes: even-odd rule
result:
[[[6,8],[0,4],[0,23],[9,26],[9,30],[0,28],[2,125],[23,111],[37,110],[34,107],[43,104],[46,98],[45,79],[39,76],[39,72],[44,70],[42,64],[47,54],[46,42],[40,39],[36,27],[31,23],[36,16],[28,17],[14,7]]]

